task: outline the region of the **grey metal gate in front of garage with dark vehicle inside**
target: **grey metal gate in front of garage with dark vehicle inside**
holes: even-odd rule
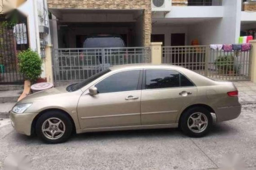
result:
[[[54,49],[54,80],[63,85],[85,80],[110,66],[150,61],[150,47]]]

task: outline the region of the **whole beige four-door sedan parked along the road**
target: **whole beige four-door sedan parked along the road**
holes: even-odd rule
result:
[[[33,93],[10,111],[18,133],[36,133],[48,143],[72,133],[180,127],[200,137],[216,121],[241,112],[231,82],[208,79],[172,65],[123,65],[78,84]]]

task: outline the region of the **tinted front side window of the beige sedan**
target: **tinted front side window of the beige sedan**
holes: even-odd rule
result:
[[[118,72],[106,77],[95,85],[98,93],[112,93],[137,90],[140,70]]]

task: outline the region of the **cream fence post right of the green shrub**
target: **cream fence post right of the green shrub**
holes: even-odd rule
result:
[[[52,45],[45,47],[45,76],[50,83],[53,83],[52,47]]]

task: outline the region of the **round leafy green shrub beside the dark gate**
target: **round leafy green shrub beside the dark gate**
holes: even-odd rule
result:
[[[18,65],[20,72],[25,76],[25,79],[35,82],[42,73],[42,59],[37,52],[27,49],[19,53]]]

